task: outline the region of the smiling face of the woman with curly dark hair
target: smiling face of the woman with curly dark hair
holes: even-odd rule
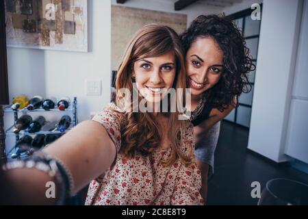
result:
[[[223,70],[223,52],[213,38],[197,38],[186,53],[185,67],[192,96],[218,83]]]

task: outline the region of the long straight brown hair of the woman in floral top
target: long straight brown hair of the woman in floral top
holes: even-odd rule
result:
[[[123,60],[118,68],[116,77],[116,103],[120,105],[124,101],[124,106],[133,108],[132,92],[133,81],[131,76],[133,74],[134,62],[144,57],[157,57],[168,52],[175,55],[176,60],[176,74],[175,81],[172,88],[186,88],[185,66],[183,48],[177,33],[170,27],[149,24],[139,29],[135,36],[129,42]],[[131,91],[131,96],[120,94],[120,88],[127,88]],[[168,97],[167,97],[168,98]],[[178,98],[178,96],[177,96]],[[136,152],[142,155],[149,155],[159,147],[162,140],[162,132],[159,130],[153,114],[146,112],[126,112],[128,123],[122,132],[122,146],[120,153],[127,157],[134,157]],[[171,142],[172,153],[170,159],[164,161],[166,166],[172,165],[175,160],[180,157],[185,164],[191,164],[192,155],[183,155],[180,151],[181,136],[184,125],[187,121],[179,120],[179,112],[160,113],[168,117],[168,139]]]

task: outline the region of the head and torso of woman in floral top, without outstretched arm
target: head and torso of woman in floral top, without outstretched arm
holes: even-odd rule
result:
[[[94,117],[110,130],[119,153],[112,169],[90,184],[86,204],[202,202],[198,194],[201,179],[193,162],[192,125],[179,120],[180,112],[162,113],[156,107],[162,98],[168,98],[170,88],[185,88],[183,67],[181,43],[169,27],[146,25],[131,40],[118,68],[116,103],[122,109],[132,109],[133,95],[119,90],[136,89],[141,94],[137,101],[146,99],[153,113],[127,110],[121,114],[120,108],[111,104],[109,110]],[[108,118],[112,122],[106,123]]]

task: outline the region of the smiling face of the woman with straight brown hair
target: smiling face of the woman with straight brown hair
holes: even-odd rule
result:
[[[144,57],[133,64],[133,73],[140,94],[150,103],[164,98],[175,80],[175,55],[172,52],[158,57]]]

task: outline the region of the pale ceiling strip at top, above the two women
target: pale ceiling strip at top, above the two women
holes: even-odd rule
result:
[[[175,1],[170,0],[129,0],[125,4],[118,4],[116,0],[112,0],[112,5],[119,5],[130,8],[142,8],[148,10],[156,10],[159,12],[172,12],[176,14],[187,14],[187,25],[201,14],[215,14],[220,12],[220,8],[215,6],[204,5],[200,1],[196,1],[192,5],[180,11],[175,11]]]

